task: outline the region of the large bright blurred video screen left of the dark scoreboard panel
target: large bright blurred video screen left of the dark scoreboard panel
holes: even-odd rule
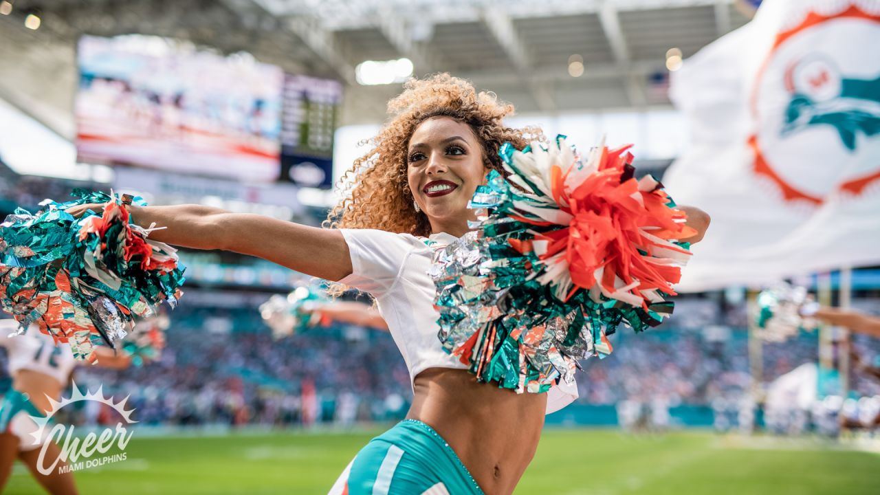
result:
[[[277,181],[283,71],[141,35],[78,44],[77,159]]]

